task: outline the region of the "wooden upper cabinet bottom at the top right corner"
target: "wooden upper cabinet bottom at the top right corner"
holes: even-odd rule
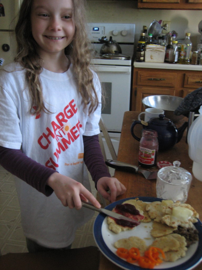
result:
[[[201,10],[202,0],[138,0],[140,9]]]

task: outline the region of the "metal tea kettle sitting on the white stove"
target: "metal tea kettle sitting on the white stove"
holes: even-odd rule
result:
[[[103,43],[101,49],[100,49],[100,54],[105,54],[105,53],[122,53],[121,47],[119,44],[116,42],[116,40],[112,39],[112,36],[110,36],[109,40],[106,38],[106,36],[99,38],[98,39],[100,42]]]

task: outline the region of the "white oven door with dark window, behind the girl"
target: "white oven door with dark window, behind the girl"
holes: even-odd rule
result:
[[[108,131],[121,132],[124,112],[130,110],[131,66],[96,65],[105,103],[102,118]]]

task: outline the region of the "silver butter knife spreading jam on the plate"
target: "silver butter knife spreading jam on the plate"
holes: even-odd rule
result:
[[[125,217],[124,215],[115,213],[115,212],[107,210],[105,208],[97,208],[94,205],[92,205],[91,203],[87,203],[87,202],[85,202],[83,200],[81,200],[81,202],[82,202],[83,207],[86,207],[86,208],[89,208],[91,210],[103,213],[103,214],[105,214],[105,215],[107,215],[109,217],[116,218],[118,220],[125,220],[125,221],[128,221],[128,222],[132,222],[132,223],[134,223],[136,225],[140,224],[139,221],[133,220],[132,218]]]

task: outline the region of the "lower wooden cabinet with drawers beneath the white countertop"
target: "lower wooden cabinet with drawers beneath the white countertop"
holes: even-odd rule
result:
[[[142,99],[151,95],[185,97],[202,87],[202,73],[196,70],[134,68],[132,111],[144,111]]]

